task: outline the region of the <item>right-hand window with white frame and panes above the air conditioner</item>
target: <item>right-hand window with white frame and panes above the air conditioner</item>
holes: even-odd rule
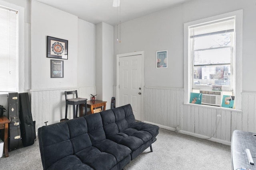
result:
[[[184,23],[184,103],[190,92],[222,85],[222,95],[242,100],[243,10]]]

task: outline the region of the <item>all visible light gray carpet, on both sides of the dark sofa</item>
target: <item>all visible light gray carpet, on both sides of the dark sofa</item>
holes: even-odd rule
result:
[[[160,129],[153,152],[146,149],[124,170],[231,170],[230,146]],[[42,170],[38,141],[0,158],[1,170]]]

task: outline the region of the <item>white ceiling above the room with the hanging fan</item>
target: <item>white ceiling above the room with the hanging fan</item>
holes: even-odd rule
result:
[[[54,8],[78,16],[90,23],[105,22],[115,25],[120,8],[113,7],[113,0],[37,0]],[[121,0],[121,22],[126,22],[160,11],[189,0]],[[117,15],[118,13],[118,15]]]

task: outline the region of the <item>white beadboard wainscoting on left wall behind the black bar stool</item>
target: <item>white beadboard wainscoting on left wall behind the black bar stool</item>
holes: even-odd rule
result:
[[[36,121],[36,132],[39,127],[57,123],[65,118],[65,91],[78,90],[78,97],[90,100],[90,94],[95,94],[95,86],[66,88],[66,89],[46,89],[30,90],[31,112],[33,120]],[[68,107],[68,119],[73,119],[72,106]]]

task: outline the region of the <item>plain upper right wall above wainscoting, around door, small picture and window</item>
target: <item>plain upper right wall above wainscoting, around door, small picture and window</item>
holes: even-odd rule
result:
[[[256,5],[255,0],[192,0],[184,4],[121,24],[122,42],[114,41],[114,55],[145,51],[145,86],[183,88],[183,24],[243,9],[242,86],[256,91]],[[116,26],[114,28],[116,31]],[[114,33],[116,39],[116,33]],[[168,50],[168,68],[156,69],[156,51]],[[116,75],[116,68],[114,71]],[[115,79],[116,80],[116,77]],[[115,82],[115,81],[114,81]],[[250,83],[248,83],[250,82]]]

